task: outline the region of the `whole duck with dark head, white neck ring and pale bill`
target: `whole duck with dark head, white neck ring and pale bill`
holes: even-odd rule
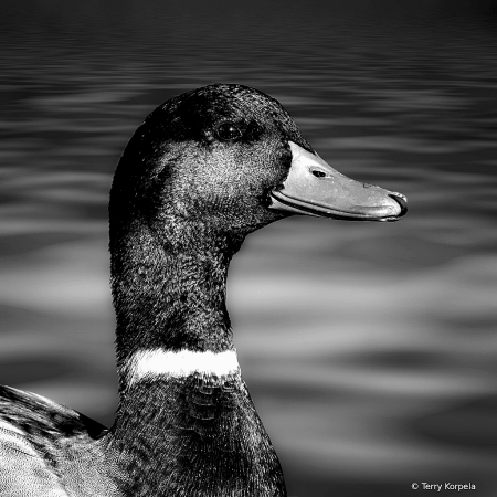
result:
[[[271,96],[213,84],[138,127],[109,195],[119,405],[112,427],[0,388],[0,496],[282,497],[226,309],[246,235],[294,214],[392,222],[398,192],[321,159]]]

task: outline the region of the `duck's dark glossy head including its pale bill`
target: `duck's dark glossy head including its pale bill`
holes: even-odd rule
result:
[[[216,84],[171,98],[146,118],[116,170],[109,210],[110,228],[113,219],[123,226],[181,220],[245,235],[292,214],[396,221],[406,199],[335,170],[276,99]]]

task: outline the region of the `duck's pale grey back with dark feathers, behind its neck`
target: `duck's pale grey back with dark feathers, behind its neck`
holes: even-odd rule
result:
[[[0,496],[118,496],[105,427],[34,393],[0,387]]]

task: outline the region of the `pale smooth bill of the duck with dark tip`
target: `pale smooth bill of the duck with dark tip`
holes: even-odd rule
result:
[[[271,191],[271,209],[294,214],[348,221],[398,221],[408,212],[408,199],[373,184],[355,181],[318,155],[289,141],[292,167]]]

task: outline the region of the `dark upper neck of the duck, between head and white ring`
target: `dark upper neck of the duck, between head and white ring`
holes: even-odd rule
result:
[[[158,231],[136,223],[110,237],[119,370],[144,350],[234,350],[226,276],[243,237],[184,221],[168,225]]]

